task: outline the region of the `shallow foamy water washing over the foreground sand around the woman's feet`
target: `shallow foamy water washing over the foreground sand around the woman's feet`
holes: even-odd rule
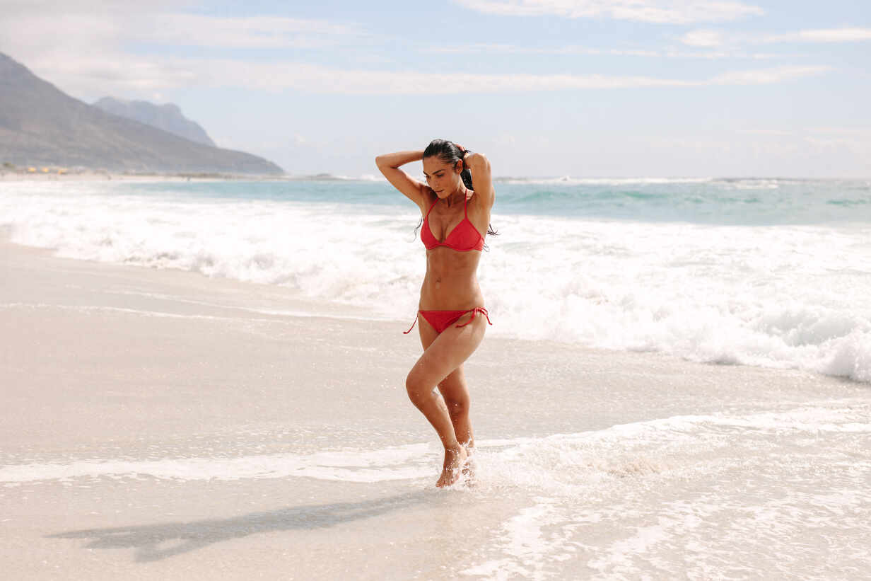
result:
[[[188,534],[217,543],[210,535],[243,524],[253,534],[353,522],[346,530],[351,538],[338,550],[344,566],[360,558],[348,554],[361,543],[353,537],[358,528],[381,540],[372,548],[376,556],[402,543],[402,558],[410,559],[383,570],[364,559],[359,566],[369,578],[377,571],[389,578],[793,578],[798,572],[857,578],[871,567],[869,413],[868,398],[853,398],[483,439],[476,482],[449,491],[433,489],[441,460],[433,445],[368,449],[331,441],[332,449],[312,454],[237,455],[223,448],[186,458],[7,464],[0,468],[6,487],[0,496],[8,500],[19,487],[33,494],[58,485],[124,484],[136,498],[135,489],[161,488],[161,481],[180,490],[221,481],[225,490],[283,482],[294,490],[289,508],[226,517],[211,532]],[[300,490],[316,501],[332,490],[327,496],[338,499],[299,504]],[[160,533],[171,546],[186,537],[177,529],[164,525]],[[155,530],[160,526],[130,534]],[[118,532],[78,531],[92,542],[112,535]],[[323,540],[297,542],[304,552]],[[152,558],[174,554],[141,539],[130,546],[152,551]],[[309,566],[308,578],[336,572],[335,562]]]

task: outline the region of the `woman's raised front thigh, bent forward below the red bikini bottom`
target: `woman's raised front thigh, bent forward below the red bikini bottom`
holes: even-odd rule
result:
[[[468,315],[464,316],[458,322],[462,323],[463,319],[468,318]],[[469,325],[463,327],[456,325],[456,323],[450,325],[441,334],[437,334],[436,338],[429,342],[429,345],[426,345],[424,339],[425,332],[421,332],[424,351],[408,373],[409,380],[424,386],[435,387],[457,367],[463,365],[463,361],[469,359],[478,345],[481,345],[487,326],[486,318],[476,317]],[[429,331],[435,332],[431,327],[429,327]]]

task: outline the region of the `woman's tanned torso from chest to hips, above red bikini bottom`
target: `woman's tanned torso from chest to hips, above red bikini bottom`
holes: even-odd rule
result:
[[[469,191],[469,195],[472,192]],[[435,206],[433,204],[435,203]],[[429,212],[429,215],[427,215]],[[481,236],[485,236],[490,223],[490,211],[483,208],[476,195],[466,200],[465,212],[462,204],[447,208],[439,202],[435,193],[428,189],[427,208],[423,211],[425,220],[421,228],[428,228],[436,241],[445,241],[453,235],[458,226],[468,217]],[[423,234],[423,232],[422,232]],[[453,311],[483,306],[484,299],[478,286],[477,269],[481,260],[479,250],[459,251],[447,246],[436,246],[427,251],[427,274],[421,286],[419,309],[423,311]]]

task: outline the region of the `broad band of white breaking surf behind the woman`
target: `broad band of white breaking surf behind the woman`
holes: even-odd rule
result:
[[[425,262],[413,208],[113,187],[17,184],[0,227],[58,256],[279,284],[343,317],[414,318]],[[501,235],[479,267],[488,333],[871,382],[868,223],[491,222]]]

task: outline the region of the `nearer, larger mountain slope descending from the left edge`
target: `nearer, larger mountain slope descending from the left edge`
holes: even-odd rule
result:
[[[186,140],[61,92],[0,52],[0,163],[112,171],[283,174],[252,154]]]

